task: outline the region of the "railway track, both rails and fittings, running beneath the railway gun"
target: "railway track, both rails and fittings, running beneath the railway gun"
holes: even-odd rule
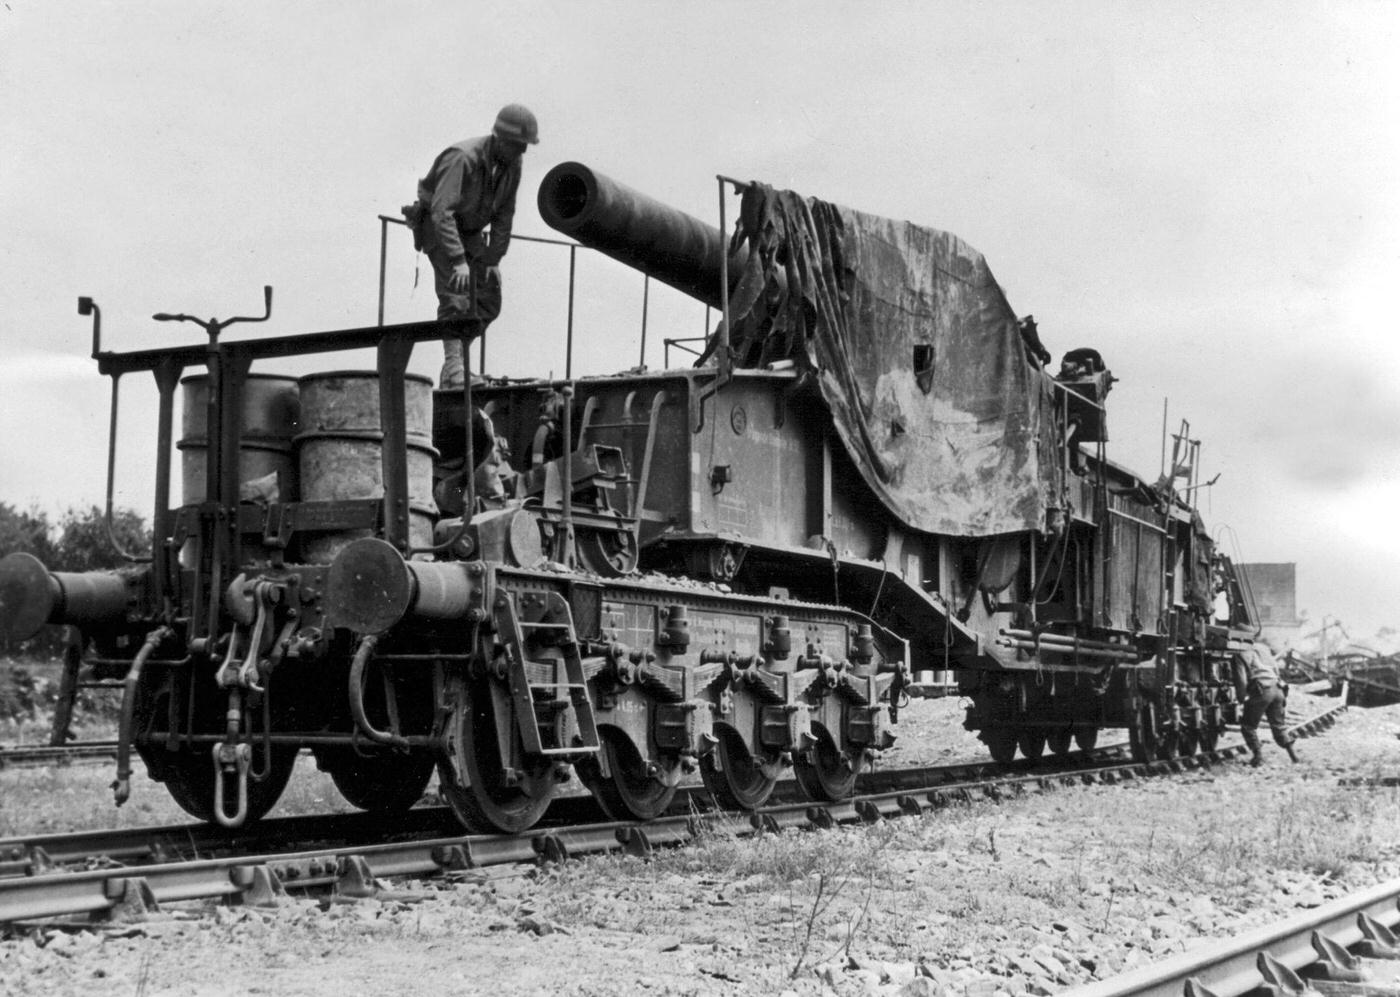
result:
[[[1333,723],[1345,706],[1298,724],[1298,734],[1316,734]],[[550,811],[549,822],[524,835],[435,835],[448,823],[445,808],[409,811],[409,821],[421,821],[420,832],[406,840],[382,840],[384,818],[374,815],[343,815],[339,818],[284,818],[265,822],[270,828],[260,839],[232,846],[228,854],[169,861],[168,846],[182,836],[189,840],[176,851],[200,853],[200,835],[206,825],[188,825],[129,832],[98,832],[97,835],[57,835],[0,842],[0,858],[8,864],[8,878],[0,879],[0,921],[25,921],[63,916],[140,916],[160,903],[179,900],[223,900],[228,903],[272,905],[287,891],[335,891],[343,896],[371,896],[377,881],[400,877],[480,875],[482,867],[536,860],[564,860],[603,851],[629,851],[647,856],[666,844],[682,844],[717,825],[736,833],[774,832],[785,828],[830,828],[839,823],[871,823],[875,821],[920,815],[956,802],[973,800],[1005,800],[1029,793],[1054,791],[1064,786],[1085,783],[1117,783],[1161,774],[1210,767],[1236,758],[1243,745],[1233,745],[1208,755],[1184,759],[1138,763],[1123,760],[1121,746],[1095,749],[1088,759],[1079,758],[1078,767],[1030,769],[1023,766],[952,766],[951,769],[907,770],[885,773],[885,784],[871,780],[858,797],[836,804],[808,801],[777,802],[748,812],[700,812],[697,797],[682,805],[693,811],[672,812],[647,823],[578,821],[573,807],[592,807],[587,797],[566,798],[559,812]],[[1114,758],[1117,756],[1117,758]],[[1068,758],[1068,756],[1067,756]],[[997,774],[990,774],[995,769]],[[923,773],[923,774],[920,774]],[[932,777],[930,777],[932,776]],[[962,779],[962,776],[970,776]],[[906,783],[906,784],[899,784]],[[699,794],[699,791],[697,791]],[[442,814],[437,814],[442,809]],[[377,836],[336,844],[307,847],[316,835],[328,835],[329,823],[358,822],[361,833],[377,830]],[[298,823],[300,822],[300,823]],[[329,822],[329,823],[328,823]],[[304,835],[290,840],[293,849],[262,850],[276,837],[266,835],[300,829]],[[101,837],[106,835],[106,837]],[[83,840],[87,844],[80,844]],[[203,839],[209,840],[209,839]],[[288,839],[283,837],[283,842]],[[326,839],[319,839],[325,842]],[[101,842],[104,868],[73,871],[71,865],[56,868],[55,854],[70,861],[95,861],[91,844]],[[83,854],[83,849],[90,849]],[[225,847],[227,836],[225,836]],[[38,861],[42,850],[48,864]],[[136,863],[147,864],[136,864]]]

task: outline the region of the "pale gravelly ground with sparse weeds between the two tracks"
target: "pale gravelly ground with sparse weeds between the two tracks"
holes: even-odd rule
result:
[[[1305,714],[1331,700],[1295,696]],[[956,700],[890,763],[981,758]],[[927,737],[921,746],[910,746]],[[0,942],[7,994],[1056,993],[1400,877],[1400,709],[1267,765],[736,839],[650,863],[392,884],[379,899],[169,907]],[[1238,737],[1238,735],[1232,735]]]

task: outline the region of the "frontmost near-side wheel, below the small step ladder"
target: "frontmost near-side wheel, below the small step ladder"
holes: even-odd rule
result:
[[[518,835],[535,826],[554,794],[553,766],[536,760],[507,777],[486,681],[461,683],[445,724],[438,780],[456,819],[480,835]],[[510,738],[519,751],[519,731],[511,730]]]

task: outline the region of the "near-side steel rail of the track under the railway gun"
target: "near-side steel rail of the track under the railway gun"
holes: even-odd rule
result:
[[[1299,732],[1330,725],[1338,706],[1301,724]],[[1050,791],[1075,781],[1117,781],[1205,767],[1240,748],[1165,762],[1130,763],[1092,772],[1015,774],[990,783],[939,784],[918,791],[892,790],[834,804],[795,802],[766,807],[755,814],[717,812],[673,815],[648,823],[588,823],[540,828],[519,836],[452,835],[413,842],[349,844],[311,851],[230,856],[137,868],[39,874],[0,881],[0,923],[71,914],[105,916],[113,909],[146,910],[160,903],[192,899],[277,903],[287,888],[330,888],[342,895],[370,896],[377,879],[463,872],[503,863],[563,860],[595,851],[627,850],[650,854],[661,844],[686,842],[714,823],[732,833],[752,835],[783,828],[829,828],[874,822],[976,798],[1001,800],[1026,791]],[[980,794],[980,795],[979,795]],[[365,815],[370,819],[372,815]]]

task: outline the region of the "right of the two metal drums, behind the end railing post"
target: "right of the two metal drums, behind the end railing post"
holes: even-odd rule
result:
[[[409,542],[433,543],[433,381],[403,378],[409,456]],[[379,375],[374,371],[326,371],[300,379],[301,434],[295,438],[302,501],[384,497],[384,431],[379,426]],[[368,529],[312,534],[301,541],[300,559],[328,563]]]

